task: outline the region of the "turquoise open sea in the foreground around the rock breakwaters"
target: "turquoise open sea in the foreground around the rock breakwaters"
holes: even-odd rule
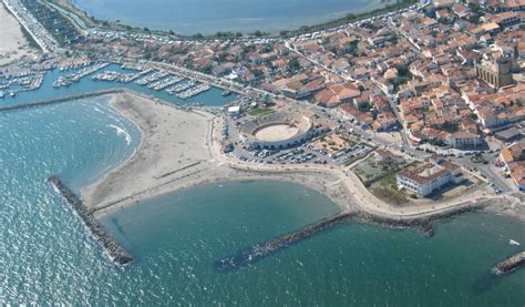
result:
[[[216,272],[216,259],[338,211],[315,191],[276,182],[197,187],[105,217],[136,257],[115,268],[45,178],[60,174],[79,190],[133,153],[137,129],[100,98],[3,112],[0,131],[0,305],[525,304],[525,270],[488,275],[518,250],[509,238],[525,243],[524,225],[488,214],[440,223],[432,238],[349,223]]]

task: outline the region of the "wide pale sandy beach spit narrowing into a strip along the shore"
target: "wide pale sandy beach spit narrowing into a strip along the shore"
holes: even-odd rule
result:
[[[483,190],[428,205],[393,206],[368,191],[349,167],[325,165],[250,164],[222,154],[222,122],[204,111],[186,111],[124,92],[111,105],[142,131],[136,153],[82,191],[85,204],[97,215],[203,184],[241,180],[294,182],[315,188],[337,203],[341,212],[361,211],[375,216],[410,219],[430,217],[470,206],[524,219],[522,206],[509,196],[493,197]],[[511,214],[512,213],[512,214]]]

